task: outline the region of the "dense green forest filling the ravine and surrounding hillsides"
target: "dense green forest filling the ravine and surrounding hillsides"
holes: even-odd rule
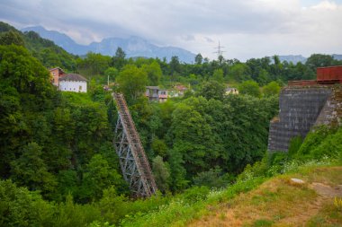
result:
[[[341,64],[324,55],[293,65],[276,56],[241,63],[199,54],[188,65],[177,57],[127,59],[121,48],[113,57],[77,57],[35,32],[3,22],[0,31],[0,225],[8,226],[125,225],[130,215],[155,211],[174,197],[195,203],[265,160],[280,86],[313,78],[316,66]],[[85,74],[88,93],[58,92],[47,69],[53,66]],[[107,76],[129,103],[160,190],[156,197],[130,199],[112,147],[117,111],[103,90]],[[143,96],[148,84],[174,83],[191,89],[164,103]],[[226,83],[240,95],[226,95]],[[310,156],[302,147],[300,156]]]

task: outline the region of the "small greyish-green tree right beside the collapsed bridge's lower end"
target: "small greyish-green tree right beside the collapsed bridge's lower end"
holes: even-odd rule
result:
[[[163,162],[163,158],[159,155],[152,161],[152,170],[157,188],[162,192],[166,192],[168,190],[170,170],[167,168],[167,163]]]

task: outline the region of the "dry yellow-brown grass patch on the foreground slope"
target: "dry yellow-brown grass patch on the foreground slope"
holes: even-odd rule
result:
[[[293,183],[291,178],[305,183]],[[211,212],[189,225],[342,226],[342,207],[334,205],[335,196],[342,197],[342,167],[310,167],[211,205]]]

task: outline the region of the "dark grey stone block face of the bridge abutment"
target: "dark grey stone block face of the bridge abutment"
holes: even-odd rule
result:
[[[287,152],[291,138],[297,135],[305,137],[332,92],[329,86],[284,88],[279,96],[279,117],[270,124],[268,151]],[[328,113],[331,109],[327,107],[326,110]]]

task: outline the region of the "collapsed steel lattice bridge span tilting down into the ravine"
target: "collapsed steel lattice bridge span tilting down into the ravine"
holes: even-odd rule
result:
[[[112,95],[119,114],[113,144],[119,155],[123,178],[129,183],[130,191],[134,196],[152,196],[157,192],[156,181],[130,116],[130,110],[123,94],[112,93]]]

